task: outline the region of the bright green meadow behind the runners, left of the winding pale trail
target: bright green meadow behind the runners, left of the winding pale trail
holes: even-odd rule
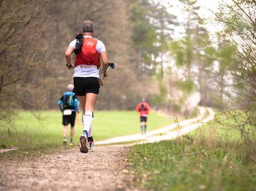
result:
[[[154,112],[148,117],[148,131],[173,121]],[[0,124],[0,147],[52,146],[62,144],[62,113],[60,111],[20,111],[11,123]],[[8,134],[10,129],[10,136]],[[82,132],[81,115],[76,121],[74,141]],[[96,111],[93,121],[94,140],[140,133],[139,115],[135,111]],[[68,129],[69,139],[70,128]]]

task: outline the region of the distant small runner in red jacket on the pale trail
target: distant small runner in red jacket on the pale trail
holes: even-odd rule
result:
[[[141,103],[139,103],[136,107],[136,111],[140,112],[141,134],[143,134],[143,126],[144,126],[144,134],[146,134],[149,110],[150,110],[149,104],[145,101],[145,99],[142,99]]]

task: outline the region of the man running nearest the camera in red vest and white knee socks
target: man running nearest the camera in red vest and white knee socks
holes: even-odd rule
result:
[[[73,40],[65,53],[67,69],[74,68],[74,90],[81,102],[83,115],[83,133],[80,137],[81,153],[88,153],[88,149],[93,149],[92,122],[94,119],[94,105],[100,90],[99,67],[100,57],[103,62],[103,75],[108,76],[108,58],[105,45],[93,38],[94,24],[86,20],[82,24],[81,38],[77,35],[77,40]],[[82,45],[81,48],[79,45]],[[74,64],[71,64],[71,55],[75,52]]]

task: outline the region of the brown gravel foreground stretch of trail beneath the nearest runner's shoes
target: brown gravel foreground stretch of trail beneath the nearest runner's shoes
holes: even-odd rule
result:
[[[0,191],[114,191],[129,190],[126,146],[96,146],[80,153],[73,147],[36,161],[0,164]]]

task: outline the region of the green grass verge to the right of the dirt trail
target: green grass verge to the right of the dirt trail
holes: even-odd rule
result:
[[[256,127],[245,127],[248,146],[238,130],[246,119],[232,111],[216,112],[213,121],[186,137],[133,146],[129,170],[136,177],[135,187],[155,191],[256,190]]]

